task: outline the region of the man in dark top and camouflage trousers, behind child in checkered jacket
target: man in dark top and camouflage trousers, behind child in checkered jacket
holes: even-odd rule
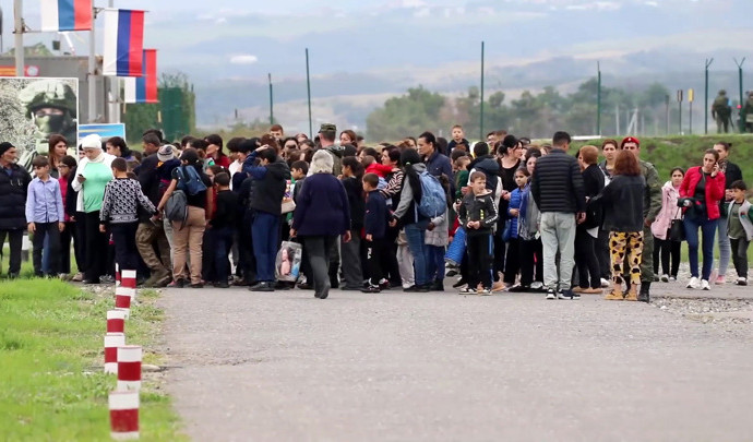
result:
[[[162,193],[159,189],[159,165],[174,159],[172,146],[160,144],[154,133],[145,133],[142,139],[144,159],[133,171],[141,184],[141,191],[150,199],[155,207],[159,204]],[[157,255],[156,250],[159,251]],[[139,228],[136,229],[136,248],[144,264],[150,268],[150,277],[144,282],[146,287],[165,287],[172,279],[170,263],[170,244],[167,241],[163,223],[154,223],[150,214],[140,213]]]

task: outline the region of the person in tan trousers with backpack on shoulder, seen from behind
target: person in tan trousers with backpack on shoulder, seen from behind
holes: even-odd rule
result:
[[[189,147],[180,156],[181,166],[172,170],[172,181],[165,191],[157,211],[172,223],[172,284],[182,288],[187,284],[186,261],[191,254],[191,287],[202,288],[202,241],[206,222],[212,218],[214,205],[210,178],[201,170],[199,153]]]

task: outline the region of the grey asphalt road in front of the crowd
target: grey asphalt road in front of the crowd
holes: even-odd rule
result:
[[[596,296],[234,288],[160,303],[167,389],[196,441],[753,438],[750,323]]]

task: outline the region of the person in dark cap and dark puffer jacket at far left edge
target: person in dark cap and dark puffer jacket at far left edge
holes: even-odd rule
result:
[[[32,176],[16,164],[17,151],[12,143],[0,143],[0,255],[8,237],[11,248],[10,277],[21,272],[21,243],[26,230],[26,189]]]

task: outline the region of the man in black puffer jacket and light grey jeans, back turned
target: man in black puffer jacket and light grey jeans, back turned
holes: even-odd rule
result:
[[[534,201],[541,212],[543,284],[548,289],[547,299],[579,299],[579,295],[573,292],[570,284],[575,265],[575,227],[586,219],[586,196],[577,159],[567,155],[570,141],[570,134],[566,132],[554,133],[552,151],[536,162],[536,171],[530,183]]]

